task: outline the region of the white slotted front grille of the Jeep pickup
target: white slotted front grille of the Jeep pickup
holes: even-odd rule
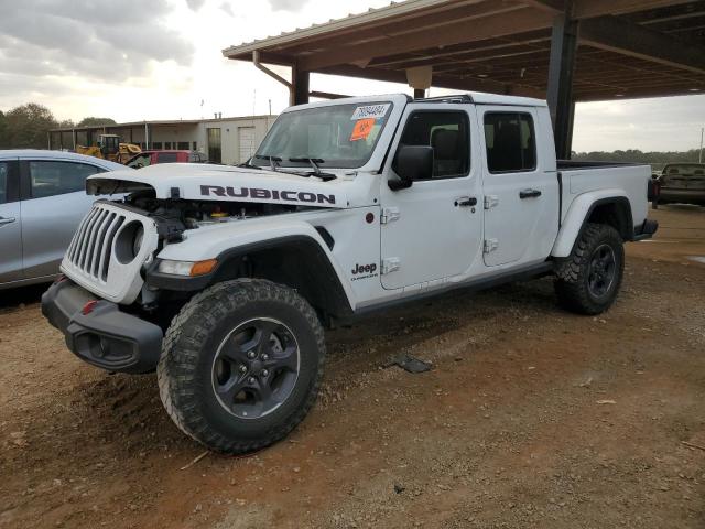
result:
[[[96,203],[78,226],[66,259],[84,276],[107,281],[112,241],[124,219],[113,207]]]

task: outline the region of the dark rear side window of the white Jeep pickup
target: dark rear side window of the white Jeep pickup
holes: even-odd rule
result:
[[[521,112],[487,112],[485,143],[490,173],[516,173],[536,169],[533,119]]]

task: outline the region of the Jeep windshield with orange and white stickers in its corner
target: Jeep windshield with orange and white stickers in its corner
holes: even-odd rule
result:
[[[251,163],[354,169],[367,163],[391,114],[391,102],[335,105],[282,114]]]

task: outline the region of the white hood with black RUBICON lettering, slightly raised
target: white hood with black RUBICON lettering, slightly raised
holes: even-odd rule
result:
[[[89,195],[111,195],[154,190],[156,198],[230,201],[312,207],[348,206],[349,180],[323,181],[267,169],[189,163],[165,163],[140,170],[126,169],[90,176]]]

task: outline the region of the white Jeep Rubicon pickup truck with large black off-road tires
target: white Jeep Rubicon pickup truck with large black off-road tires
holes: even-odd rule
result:
[[[166,411],[198,442],[253,451],[311,409],[336,320],[545,274],[564,307],[607,310],[622,244],[657,229],[650,176],[556,161],[541,100],[302,105],[240,166],[91,176],[104,198],[42,311],[85,361],[156,369]]]

